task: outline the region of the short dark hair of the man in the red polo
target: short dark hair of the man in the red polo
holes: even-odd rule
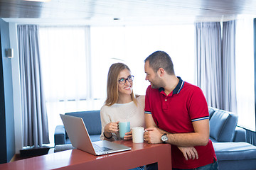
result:
[[[149,67],[151,67],[154,72],[157,72],[159,68],[163,68],[168,74],[175,74],[171,57],[164,51],[153,52],[149,57],[146,57],[144,62],[146,61],[149,61]]]

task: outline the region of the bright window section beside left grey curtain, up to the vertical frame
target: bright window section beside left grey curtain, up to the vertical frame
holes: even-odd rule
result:
[[[90,87],[90,27],[41,26],[43,85],[46,87],[50,141],[60,113],[94,110]]]

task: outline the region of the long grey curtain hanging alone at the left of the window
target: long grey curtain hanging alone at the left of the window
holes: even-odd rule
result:
[[[38,26],[18,26],[23,146],[49,143],[46,101],[39,60]]]

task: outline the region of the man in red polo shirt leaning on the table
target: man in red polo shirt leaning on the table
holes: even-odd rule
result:
[[[146,58],[145,72],[151,83],[145,99],[146,142],[171,144],[173,169],[218,169],[201,89],[176,77],[163,51]]]

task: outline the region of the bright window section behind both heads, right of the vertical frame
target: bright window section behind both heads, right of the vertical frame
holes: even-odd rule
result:
[[[171,56],[177,76],[194,82],[193,24],[91,27],[91,47],[92,93],[96,98],[106,95],[107,72],[114,62],[129,66],[134,75],[135,94],[145,94],[149,82],[145,81],[144,60],[156,50]]]

